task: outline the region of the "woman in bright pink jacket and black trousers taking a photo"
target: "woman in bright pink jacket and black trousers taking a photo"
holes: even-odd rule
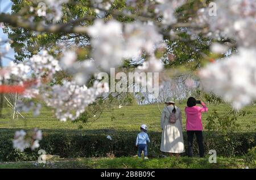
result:
[[[196,106],[201,104],[201,106]],[[188,137],[188,156],[192,157],[192,145],[193,136],[196,134],[197,144],[199,146],[200,157],[204,157],[204,144],[203,144],[203,124],[201,119],[201,113],[208,112],[207,106],[204,102],[197,102],[195,98],[189,97],[187,101],[187,107],[185,108],[185,114],[187,117],[186,130]]]

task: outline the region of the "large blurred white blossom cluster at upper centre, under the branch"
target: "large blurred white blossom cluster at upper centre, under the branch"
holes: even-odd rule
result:
[[[60,67],[71,72],[79,85],[86,83],[100,69],[110,71],[110,68],[122,65],[123,59],[141,57],[143,52],[154,57],[154,50],[165,46],[156,27],[141,22],[125,24],[123,28],[122,23],[115,20],[104,23],[98,19],[88,27],[88,34],[92,37],[93,61],[76,62],[77,55],[72,50],[64,51],[60,59]]]

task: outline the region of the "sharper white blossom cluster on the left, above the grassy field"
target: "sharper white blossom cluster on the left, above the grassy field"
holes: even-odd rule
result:
[[[72,59],[73,58],[73,59]],[[61,65],[66,69],[71,64],[68,64],[69,61],[72,62],[73,71],[79,70],[84,73],[84,75],[93,74],[93,64],[89,61],[76,62],[73,63],[76,59],[76,55],[71,52],[67,52],[67,56],[61,59]],[[15,75],[16,79],[23,83],[26,80],[33,79],[31,74],[28,72],[33,70],[36,76],[36,83],[28,86],[23,93],[23,97],[31,98],[35,96],[41,96],[42,99],[46,101],[48,106],[52,106],[56,109],[56,117],[61,121],[66,121],[69,119],[76,119],[79,117],[80,113],[84,112],[85,107],[91,104],[96,100],[96,97],[101,95],[101,93],[108,92],[108,84],[94,83],[92,88],[87,88],[85,85],[79,86],[75,82],[64,81],[63,85],[53,85],[48,87],[43,83],[43,77],[52,79],[53,75],[61,70],[59,61],[49,55],[45,50],[42,54],[33,55],[27,64],[25,63],[10,63],[10,66],[6,68],[6,71],[3,75],[5,79],[10,78],[11,75]],[[86,70],[86,71],[85,71]],[[75,79],[79,74],[75,75]],[[2,77],[2,76],[1,76]],[[80,77],[81,79],[85,78],[83,74]],[[79,80],[77,80],[79,81]],[[32,110],[34,115],[40,113],[40,105],[35,105],[33,102],[18,102],[16,108],[19,111],[28,112]]]

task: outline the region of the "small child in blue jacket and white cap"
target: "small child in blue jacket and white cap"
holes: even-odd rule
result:
[[[144,152],[144,159],[147,158],[147,142],[150,143],[150,139],[147,135],[147,126],[141,125],[141,132],[137,135],[136,146],[138,147],[138,156],[141,158],[142,151]]]

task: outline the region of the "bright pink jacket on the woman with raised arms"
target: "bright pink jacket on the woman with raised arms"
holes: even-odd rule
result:
[[[202,131],[203,130],[201,113],[208,112],[208,108],[204,104],[204,102],[201,102],[201,105],[203,106],[203,108],[200,106],[193,106],[193,107],[185,108],[185,113],[186,113],[186,117],[187,117],[187,123],[186,123],[187,131]]]

